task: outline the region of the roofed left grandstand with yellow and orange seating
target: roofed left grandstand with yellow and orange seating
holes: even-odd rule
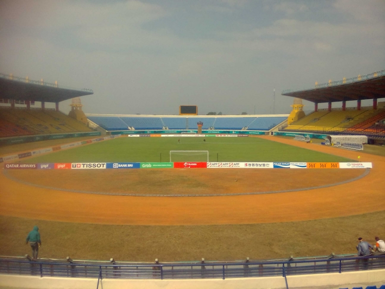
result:
[[[62,88],[57,82],[50,84],[0,74],[0,91],[0,137],[92,132],[81,121],[59,111],[60,101],[90,95],[90,90]],[[41,107],[31,108],[35,102],[40,102]],[[45,108],[47,102],[55,103],[55,109]]]

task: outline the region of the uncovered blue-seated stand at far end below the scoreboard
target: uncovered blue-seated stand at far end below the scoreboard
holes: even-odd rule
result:
[[[268,131],[287,119],[287,115],[260,116],[133,116],[87,114],[88,120],[106,131],[127,130],[197,130],[197,122],[203,122],[204,130],[260,130]]]

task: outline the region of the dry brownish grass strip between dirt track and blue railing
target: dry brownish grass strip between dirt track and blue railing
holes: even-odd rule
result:
[[[295,213],[295,212],[293,212]],[[127,226],[0,217],[0,255],[29,252],[38,225],[40,257],[153,261],[234,260],[354,253],[357,237],[385,237],[385,211],[322,220],[209,226]]]

